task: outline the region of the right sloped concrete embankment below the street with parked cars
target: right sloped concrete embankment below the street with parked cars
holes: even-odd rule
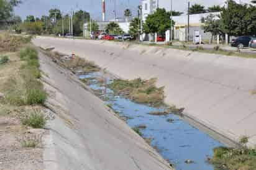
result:
[[[37,37],[35,45],[55,47],[95,61],[123,79],[158,78],[165,101],[211,130],[256,144],[256,60],[127,43]]]

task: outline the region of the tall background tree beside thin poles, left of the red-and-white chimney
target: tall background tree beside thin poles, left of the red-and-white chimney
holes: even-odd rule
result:
[[[77,11],[73,16],[73,32],[75,35],[83,34],[83,24],[89,21],[89,13],[86,11]]]

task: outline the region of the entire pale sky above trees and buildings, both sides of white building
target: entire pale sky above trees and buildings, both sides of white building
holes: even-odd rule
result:
[[[25,16],[34,15],[40,17],[47,15],[48,10],[52,8],[60,9],[64,14],[67,14],[72,9],[90,12],[93,19],[101,20],[102,0],[22,0],[23,3],[16,7],[17,15],[25,19]],[[248,2],[249,0],[241,0]],[[188,0],[173,0],[173,10],[186,11]],[[190,0],[191,4],[199,3],[204,6],[213,6],[224,4],[224,0]],[[116,0],[117,17],[124,16],[124,9],[131,9],[132,14],[136,14],[137,6],[140,4],[139,0]],[[170,8],[170,0],[159,0],[159,5]],[[106,19],[114,18],[114,0],[106,0]]]

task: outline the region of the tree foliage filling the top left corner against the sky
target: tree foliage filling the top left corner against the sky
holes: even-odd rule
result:
[[[17,0],[0,0],[0,23],[7,22],[13,16],[13,8],[21,1]]]

